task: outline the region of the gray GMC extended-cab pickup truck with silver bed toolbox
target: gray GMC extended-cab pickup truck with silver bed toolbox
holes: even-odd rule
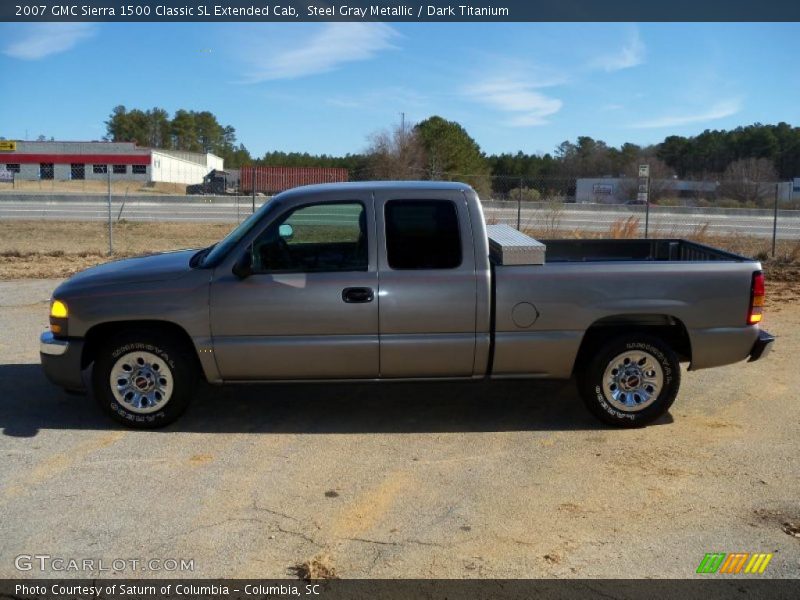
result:
[[[200,377],[573,376],[592,413],[630,427],[669,409],[680,362],[764,356],[763,305],[758,262],[700,244],[541,244],[487,228],[464,184],[330,184],[276,196],[209,248],[78,273],[40,351],[51,381],[91,387],[131,427],[173,421]]]

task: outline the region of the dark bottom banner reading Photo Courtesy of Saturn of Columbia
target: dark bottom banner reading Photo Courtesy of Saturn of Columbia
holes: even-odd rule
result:
[[[307,598],[319,600],[583,600],[660,598],[735,600],[737,598],[795,599],[796,580],[711,576],[696,580],[2,580],[0,597],[18,600],[248,600]]]

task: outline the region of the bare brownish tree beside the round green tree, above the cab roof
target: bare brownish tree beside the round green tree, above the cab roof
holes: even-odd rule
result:
[[[420,179],[425,150],[416,129],[396,127],[372,135],[367,165],[375,179]]]

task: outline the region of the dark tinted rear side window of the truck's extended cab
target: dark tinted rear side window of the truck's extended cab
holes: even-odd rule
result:
[[[461,264],[456,205],[448,200],[386,203],[386,257],[392,269],[455,269]]]

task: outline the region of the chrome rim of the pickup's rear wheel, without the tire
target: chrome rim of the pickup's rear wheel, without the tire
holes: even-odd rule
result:
[[[603,373],[603,393],[614,408],[638,412],[650,406],[664,387],[664,369],[655,356],[631,350],[613,358]]]

